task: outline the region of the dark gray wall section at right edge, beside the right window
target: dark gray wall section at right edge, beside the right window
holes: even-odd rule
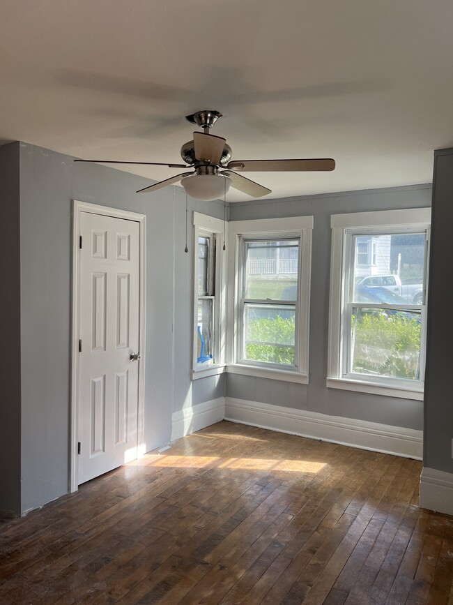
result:
[[[434,154],[423,465],[445,472],[453,472],[452,225],[453,149],[444,149]]]

